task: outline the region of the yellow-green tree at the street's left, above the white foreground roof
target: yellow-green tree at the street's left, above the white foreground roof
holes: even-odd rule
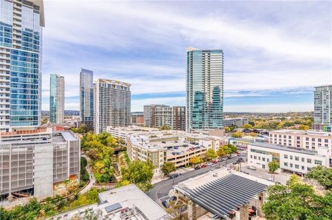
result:
[[[151,161],[133,160],[127,168],[121,168],[122,180],[134,183],[143,191],[149,190],[154,176],[154,166]]]

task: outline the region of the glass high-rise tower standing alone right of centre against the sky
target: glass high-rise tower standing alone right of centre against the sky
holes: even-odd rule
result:
[[[187,50],[187,132],[223,128],[223,50]]]

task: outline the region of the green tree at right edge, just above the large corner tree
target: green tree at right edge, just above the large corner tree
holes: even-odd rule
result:
[[[306,178],[315,179],[320,185],[324,186],[326,190],[332,189],[332,168],[315,166],[306,173]]]

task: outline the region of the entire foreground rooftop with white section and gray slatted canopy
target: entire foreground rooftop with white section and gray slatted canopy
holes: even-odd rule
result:
[[[226,217],[272,184],[258,177],[221,168],[178,183],[174,188],[205,210]]]

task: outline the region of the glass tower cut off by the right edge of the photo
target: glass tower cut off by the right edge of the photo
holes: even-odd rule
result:
[[[332,85],[315,87],[313,121],[313,129],[331,132]]]

